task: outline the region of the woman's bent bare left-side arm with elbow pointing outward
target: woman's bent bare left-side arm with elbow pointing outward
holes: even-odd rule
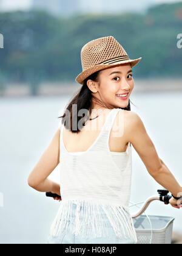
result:
[[[28,183],[29,186],[35,190],[41,192],[52,191],[60,196],[59,184],[47,179],[59,164],[59,135],[60,128],[56,131],[51,143],[47,149],[45,149],[41,158],[39,158],[32,172],[30,172]]]

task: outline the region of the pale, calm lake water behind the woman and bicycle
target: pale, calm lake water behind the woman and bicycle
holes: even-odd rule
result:
[[[158,155],[182,184],[182,93],[137,93],[130,99],[140,115]],[[47,243],[58,201],[27,184],[27,178],[49,145],[70,97],[1,98],[0,243]],[[132,148],[132,202],[141,202],[162,188],[147,172]],[[59,182],[59,165],[50,175]],[[131,208],[134,212],[136,208]],[[131,212],[132,212],[131,210]],[[150,215],[174,216],[174,230],[182,233],[182,210],[154,202]]]

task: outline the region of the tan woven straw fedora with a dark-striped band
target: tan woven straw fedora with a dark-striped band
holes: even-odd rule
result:
[[[83,84],[84,79],[96,71],[124,63],[130,63],[132,67],[140,60],[141,57],[135,60],[129,59],[124,48],[114,37],[97,38],[86,43],[81,49],[83,71],[76,77],[75,81]]]

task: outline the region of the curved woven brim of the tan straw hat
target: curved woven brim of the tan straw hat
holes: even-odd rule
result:
[[[130,63],[130,66],[133,67],[135,66],[138,62],[140,62],[141,57],[135,60],[124,60],[121,62],[115,62],[113,64],[100,64],[100,65],[96,65],[93,66],[91,68],[88,68],[87,70],[81,72],[75,79],[76,82],[78,82],[79,84],[83,85],[83,81],[84,79],[86,79],[88,76],[90,76],[91,74],[95,73],[96,71],[105,69],[105,68],[110,68],[112,66],[116,66],[119,64],[124,64],[124,63]]]

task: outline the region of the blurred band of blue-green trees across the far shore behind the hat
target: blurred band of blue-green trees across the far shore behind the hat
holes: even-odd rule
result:
[[[136,76],[181,77],[181,10],[182,2],[156,5],[146,14],[58,18],[38,10],[1,13],[0,72],[8,82],[28,82],[36,95],[45,80],[75,80],[81,72],[83,45],[113,35],[130,59],[143,57],[134,69]]]

